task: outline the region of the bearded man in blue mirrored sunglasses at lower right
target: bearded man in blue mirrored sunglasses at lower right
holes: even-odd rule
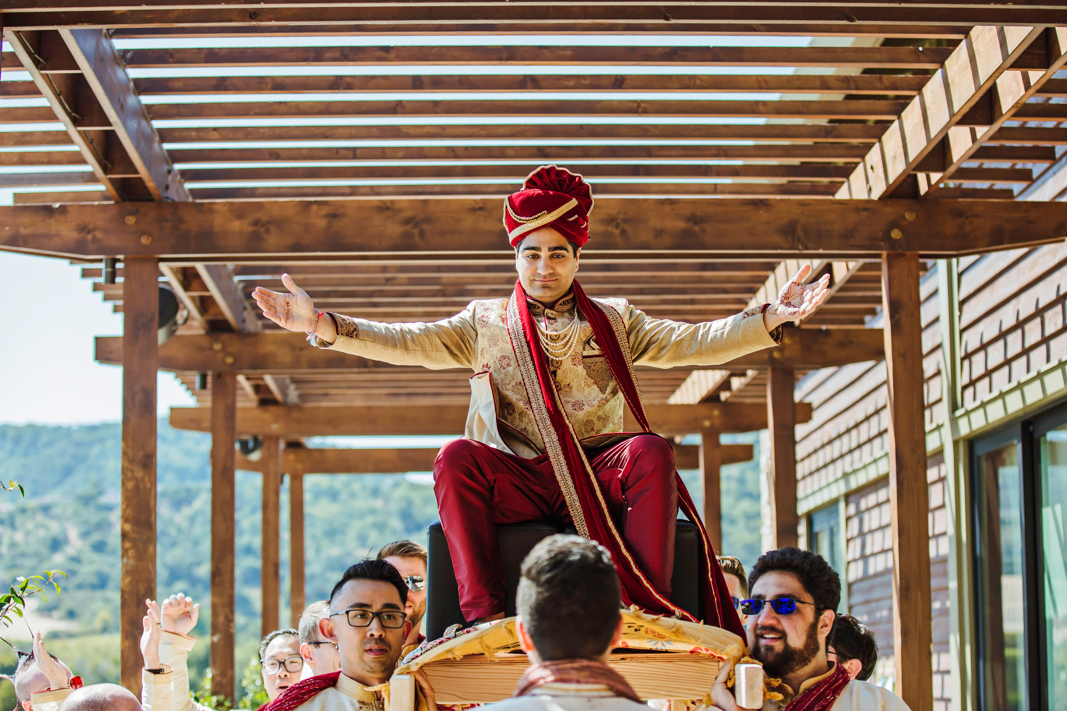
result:
[[[784,682],[783,711],[908,711],[892,692],[850,679],[845,666],[827,658],[841,579],[821,555],[768,551],[752,566],[748,589],[751,597],[739,607],[749,616],[749,653],[768,677]],[[739,711],[727,688],[731,668],[723,664],[712,686],[712,702],[721,711]]]

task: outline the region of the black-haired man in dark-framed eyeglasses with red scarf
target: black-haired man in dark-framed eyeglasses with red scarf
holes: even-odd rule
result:
[[[408,585],[385,561],[362,561],[345,571],[330,594],[330,615],[319,629],[337,643],[340,669],[294,684],[260,711],[384,711],[380,692],[393,676],[411,631],[404,613]],[[429,711],[436,711],[426,675],[416,673]]]

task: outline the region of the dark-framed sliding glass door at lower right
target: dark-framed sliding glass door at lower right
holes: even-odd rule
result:
[[[981,708],[1067,710],[1067,407],[971,453]]]

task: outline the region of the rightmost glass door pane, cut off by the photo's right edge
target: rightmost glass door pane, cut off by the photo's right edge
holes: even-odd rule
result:
[[[1041,553],[1045,568],[1045,693],[1048,708],[1067,708],[1067,425],[1041,435]]]

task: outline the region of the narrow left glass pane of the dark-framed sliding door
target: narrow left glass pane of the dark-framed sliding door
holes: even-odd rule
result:
[[[1022,474],[1019,442],[977,456],[983,708],[1026,709]]]

